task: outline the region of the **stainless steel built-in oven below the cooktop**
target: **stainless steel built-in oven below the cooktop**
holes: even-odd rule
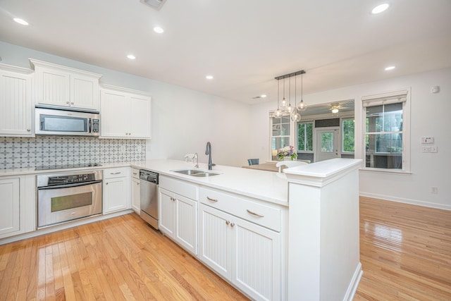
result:
[[[103,171],[37,176],[37,228],[101,214]]]

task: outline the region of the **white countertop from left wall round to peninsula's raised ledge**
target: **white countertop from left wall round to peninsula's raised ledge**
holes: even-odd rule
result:
[[[187,163],[181,160],[158,159],[138,162],[108,163],[95,167],[52,169],[46,171],[35,171],[35,168],[10,168],[1,169],[0,176],[37,175],[41,173],[88,171],[131,166],[154,171],[161,175],[187,180],[210,188],[235,192],[247,197],[254,197],[266,202],[288,206],[288,180],[295,180],[298,182],[299,180],[303,181],[303,179],[307,179],[307,182],[309,182],[315,178],[321,178],[321,181],[323,181],[337,175],[340,171],[345,171],[349,168],[358,168],[361,162],[361,159],[330,159],[313,164],[285,168],[284,173],[218,165],[214,166],[213,172],[221,173],[220,175],[199,178],[174,172],[174,170],[184,168],[194,169],[194,164],[192,162]],[[199,169],[208,171],[206,164],[199,164],[199,166]]]

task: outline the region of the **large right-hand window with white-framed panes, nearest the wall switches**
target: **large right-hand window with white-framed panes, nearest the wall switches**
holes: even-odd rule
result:
[[[407,91],[363,97],[365,166],[408,171]],[[407,138],[407,139],[406,139]],[[407,166],[405,166],[407,164]]]

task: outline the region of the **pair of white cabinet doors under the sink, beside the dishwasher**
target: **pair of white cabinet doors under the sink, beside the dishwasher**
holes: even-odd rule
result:
[[[159,188],[159,228],[192,254],[197,254],[197,201]]]

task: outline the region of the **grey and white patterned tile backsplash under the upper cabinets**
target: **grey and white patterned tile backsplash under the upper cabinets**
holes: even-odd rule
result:
[[[97,137],[0,137],[0,168],[113,163],[146,159],[146,140]]]

